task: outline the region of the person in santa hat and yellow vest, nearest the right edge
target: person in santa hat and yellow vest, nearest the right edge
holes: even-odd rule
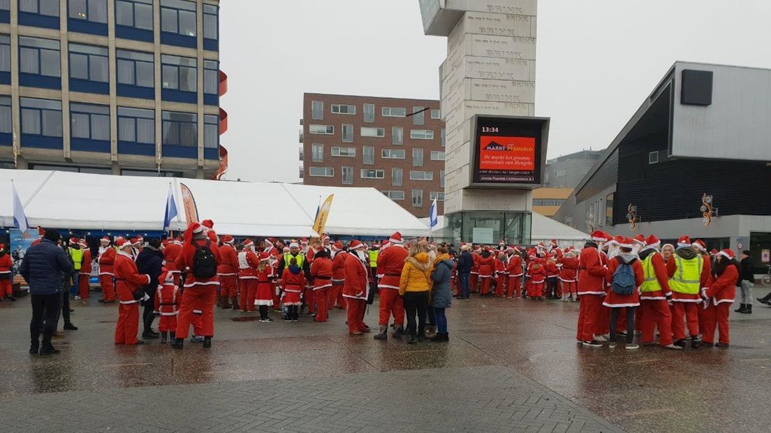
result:
[[[669,288],[672,289],[672,333],[675,346],[685,347],[685,322],[691,347],[699,347],[699,296],[704,259],[692,247],[691,238],[680,237],[675,254],[667,263]]]

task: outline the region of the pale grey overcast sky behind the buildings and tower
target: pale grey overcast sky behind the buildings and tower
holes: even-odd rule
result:
[[[480,0],[481,1],[481,0]],[[227,179],[297,182],[304,92],[439,99],[418,0],[221,2]],[[769,0],[540,0],[550,158],[611,143],[675,60],[771,68]]]

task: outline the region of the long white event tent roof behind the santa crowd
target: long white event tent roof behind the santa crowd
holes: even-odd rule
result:
[[[185,220],[180,183],[193,194],[201,219],[233,236],[313,237],[319,197],[334,193],[325,231],[336,235],[426,236],[429,229],[373,188],[334,188],[284,183],[226,182],[164,177],[108,176],[43,170],[0,170],[0,218],[13,225],[11,180],[30,227],[74,230],[163,229],[169,185]]]

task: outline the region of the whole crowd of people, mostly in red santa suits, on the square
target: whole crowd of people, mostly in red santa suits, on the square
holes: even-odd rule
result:
[[[460,243],[458,251],[453,244],[404,242],[398,232],[371,245],[359,240],[345,245],[328,235],[310,243],[270,237],[236,243],[204,220],[176,238],[104,237],[100,243],[99,302],[119,304],[115,344],[160,338],[182,349],[193,327],[190,341],[211,347],[215,306],[258,313],[263,323],[274,321],[271,311],[286,322],[301,315],[326,322],[330,310],[344,309],[348,333],[360,336],[372,331],[364,315],[375,294],[375,340],[387,340],[392,327],[390,337],[406,337],[408,344],[449,341],[446,308],[453,297],[468,300],[471,294],[580,302],[577,341],[588,347],[615,347],[622,336],[625,347],[635,349],[635,331],[643,344],[653,344],[657,329],[658,344],[668,349],[680,350],[689,341],[692,347],[711,346],[715,330],[716,346],[728,347],[736,286],[742,287],[737,311],[752,313],[746,254],[740,264],[732,250],[710,253],[704,242],[689,237],[660,248],[653,235],[624,238],[596,231],[581,250],[561,249],[552,240],[530,248],[503,241],[497,247]],[[3,258],[0,281],[8,264]],[[89,298],[91,262],[85,240],[62,240],[56,230],[41,230],[41,239],[26,251],[19,269],[32,295],[30,353],[57,352],[51,339],[59,315],[65,330],[77,330],[70,321],[69,291],[76,299]]]

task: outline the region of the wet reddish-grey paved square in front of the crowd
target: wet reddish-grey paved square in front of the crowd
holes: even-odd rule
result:
[[[767,290],[756,287],[756,292],[763,296]],[[153,398],[163,405],[175,396],[179,401],[170,404],[167,421],[177,419],[176,424],[164,421],[149,428],[145,422],[132,431],[369,431],[385,425],[392,427],[388,431],[771,428],[766,410],[771,308],[760,304],[752,315],[732,313],[730,348],[682,352],[659,347],[625,351],[623,344],[612,351],[579,347],[578,305],[557,301],[454,301],[448,310],[449,344],[414,346],[348,336],[343,310],[333,310],[325,324],[311,317],[299,323],[232,321],[245,314],[217,310],[213,347],[186,341],[184,351],[172,351],[157,340],[115,346],[115,305],[92,298],[72,306],[79,331],[55,340],[61,354],[37,357],[27,353],[29,300],[0,303],[0,431],[39,430],[62,422],[39,415],[42,402],[64,410],[64,419],[67,413],[79,414],[82,424],[69,420],[58,430],[121,430],[138,421],[114,424],[123,412],[115,404],[99,409],[103,401],[125,401],[131,411],[145,411],[148,402],[159,404]],[[278,319],[278,314],[271,316]],[[376,327],[376,305],[365,321]],[[322,388],[313,391],[316,386]],[[306,388],[307,395],[298,391]],[[195,408],[197,399],[217,404]],[[229,403],[223,406],[223,400]],[[411,408],[403,406],[411,401]],[[77,404],[69,408],[70,402]],[[303,409],[281,411],[287,404]],[[376,410],[383,404],[385,412]],[[207,413],[209,405],[217,409],[211,416],[189,416]],[[328,413],[316,413],[320,407]],[[345,407],[362,413],[345,418]],[[222,411],[231,412],[228,408],[237,412],[236,421],[216,421]],[[395,415],[385,419],[383,413]],[[275,422],[261,424],[265,417]]]

